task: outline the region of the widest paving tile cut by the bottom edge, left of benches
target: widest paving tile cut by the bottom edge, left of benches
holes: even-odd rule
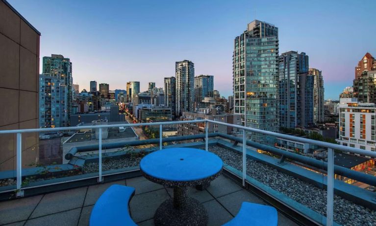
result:
[[[38,217],[26,221],[25,226],[77,226],[80,208],[51,214],[44,217]]]

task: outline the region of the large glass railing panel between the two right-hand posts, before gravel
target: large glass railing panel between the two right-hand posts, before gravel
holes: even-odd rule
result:
[[[310,165],[308,144],[252,133],[247,181],[313,221],[324,224],[324,162]],[[316,160],[316,159],[315,159]]]

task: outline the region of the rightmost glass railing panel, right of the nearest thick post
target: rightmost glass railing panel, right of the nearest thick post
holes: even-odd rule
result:
[[[334,221],[341,225],[376,225],[375,160],[336,150],[334,163]],[[355,177],[336,172],[339,169]]]

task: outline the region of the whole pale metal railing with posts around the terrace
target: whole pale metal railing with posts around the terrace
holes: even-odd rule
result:
[[[61,127],[61,128],[46,128],[46,129],[23,129],[23,130],[2,130],[0,131],[1,134],[17,134],[17,152],[16,152],[16,191],[17,196],[23,196],[23,188],[22,188],[22,133],[40,133],[40,132],[55,132],[55,131],[66,131],[66,130],[82,130],[82,129],[99,129],[99,181],[102,181],[102,133],[101,130],[103,128],[112,128],[112,127],[137,127],[137,126],[158,126],[159,125],[159,149],[161,150],[163,147],[163,137],[162,137],[162,127],[163,125],[171,125],[171,124],[183,124],[183,123],[198,123],[198,122],[205,122],[205,150],[208,151],[208,124],[214,123],[219,125],[225,125],[229,127],[238,128],[243,132],[242,135],[242,182],[243,186],[246,184],[246,177],[247,177],[247,154],[246,154],[246,147],[247,147],[247,138],[246,132],[251,133],[260,133],[263,135],[275,136],[279,138],[286,138],[292,141],[298,141],[303,143],[314,144],[317,146],[327,148],[327,203],[326,203],[326,225],[332,226],[333,225],[333,183],[334,183],[334,150],[341,151],[341,152],[351,152],[363,156],[369,156],[376,158],[376,152],[342,146],[333,143],[327,143],[324,141],[312,140],[308,138],[302,138],[297,136],[290,136],[285,134],[279,134],[275,132],[269,132],[254,128],[249,128],[245,126],[239,126],[234,124],[229,124],[220,121],[213,121],[208,119],[201,119],[201,120],[187,120],[187,121],[169,121],[169,122],[153,122],[153,123],[134,123],[134,124],[111,124],[111,125],[96,125],[96,126],[76,126],[76,127]]]

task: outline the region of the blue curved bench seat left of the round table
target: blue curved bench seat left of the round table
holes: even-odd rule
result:
[[[128,203],[134,188],[114,184],[103,192],[90,215],[90,226],[137,226],[129,215]]]

